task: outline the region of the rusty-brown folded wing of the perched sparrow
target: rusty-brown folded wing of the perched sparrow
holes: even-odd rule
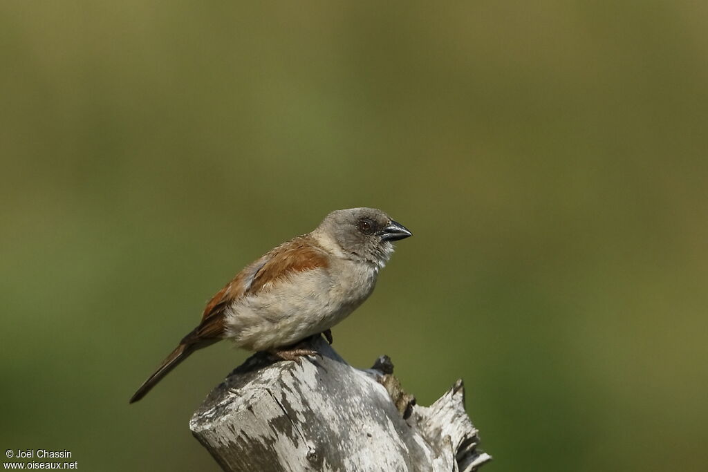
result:
[[[194,342],[222,338],[224,312],[236,300],[275,287],[278,281],[297,272],[326,268],[327,253],[312,236],[297,236],[273,248],[262,258],[241,270],[234,279],[219,290],[207,303],[199,326],[182,340]]]

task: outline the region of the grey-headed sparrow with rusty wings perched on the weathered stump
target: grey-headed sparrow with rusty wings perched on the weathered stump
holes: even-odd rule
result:
[[[333,211],[313,231],[244,267],[207,303],[199,325],[130,398],[135,403],[196,350],[220,340],[280,360],[317,352],[302,342],[323,334],[372,293],[394,241],[411,231],[375,208]]]

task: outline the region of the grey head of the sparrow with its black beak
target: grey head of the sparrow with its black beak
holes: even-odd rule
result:
[[[329,238],[348,258],[378,267],[394,252],[393,241],[412,236],[405,226],[375,208],[338,209],[328,214],[313,234]]]

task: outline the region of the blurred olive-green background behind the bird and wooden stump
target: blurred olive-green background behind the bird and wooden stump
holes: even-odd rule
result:
[[[0,4],[0,444],[217,471],[188,420],[243,359],[135,388],[331,209],[409,226],[336,328],[490,471],[708,463],[708,4]]]

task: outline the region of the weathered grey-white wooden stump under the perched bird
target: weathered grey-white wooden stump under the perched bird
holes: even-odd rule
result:
[[[388,357],[359,370],[321,337],[312,345],[321,357],[253,355],[194,413],[190,429],[224,471],[470,472],[491,460],[461,380],[424,407]]]

